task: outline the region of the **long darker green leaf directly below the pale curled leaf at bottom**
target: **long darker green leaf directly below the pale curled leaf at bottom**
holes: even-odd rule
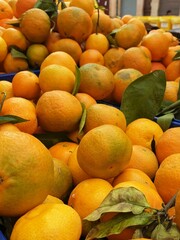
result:
[[[119,213],[109,221],[99,223],[96,227],[92,228],[87,234],[85,240],[119,234],[124,229],[131,226],[145,226],[150,224],[152,219],[153,213],[150,212],[142,212],[138,215],[134,215],[133,213]]]

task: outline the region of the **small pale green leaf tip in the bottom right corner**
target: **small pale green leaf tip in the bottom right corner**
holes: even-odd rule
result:
[[[152,239],[157,240],[179,240],[180,232],[175,224],[166,229],[163,224],[158,224],[151,234]]]

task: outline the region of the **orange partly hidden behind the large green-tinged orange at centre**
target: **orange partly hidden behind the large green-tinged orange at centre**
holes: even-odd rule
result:
[[[112,124],[126,130],[126,118],[124,113],[110,105],[94,104],[87,109],[83,131],[87,133],[91,129],[103,124]]]

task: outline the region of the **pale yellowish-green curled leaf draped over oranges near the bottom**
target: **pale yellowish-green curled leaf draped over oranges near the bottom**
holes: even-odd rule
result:
[[[131,212],[140,214],[145,208],[150,208],[144,194],[134,187],[113,189],[101,205],[88,215],[85,220],[97,221],[101,215],[108,212]]]

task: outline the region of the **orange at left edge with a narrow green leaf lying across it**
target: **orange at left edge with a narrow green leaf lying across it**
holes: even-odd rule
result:
[[[26,119],[25,122],[16,123],[22,132],[33,134],[37,128],[37,116],[35,105],[28,99],[22,97],[11,97],[4,101],[1,110],[3,115],[15,115]]]

